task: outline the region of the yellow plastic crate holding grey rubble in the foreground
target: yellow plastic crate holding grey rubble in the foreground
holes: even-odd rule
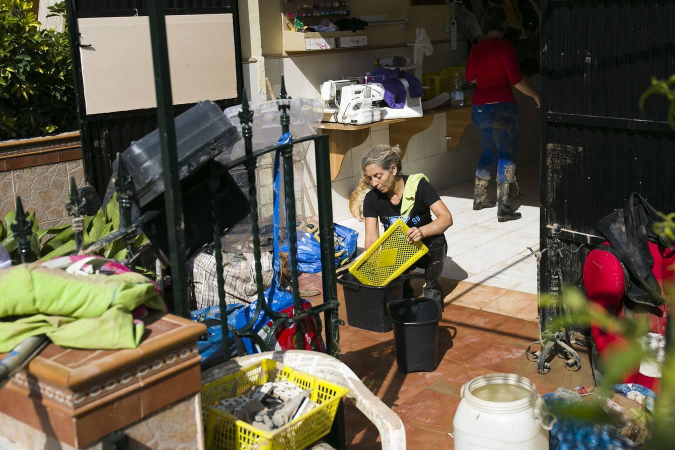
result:
[[[313,389],[311,400],[318,403],[310,412],[274,431],[254,428],[232,414],[215,409],[222,399],[236,397],[255,385],[268,381],[290,381],[303,389]],[[223,376],[202,387],[202,412],[205,414],[207,449],[282,450],[302,449],[331,430],[340,399],[348,389],[316,376],[262,360],[259,364]]]

